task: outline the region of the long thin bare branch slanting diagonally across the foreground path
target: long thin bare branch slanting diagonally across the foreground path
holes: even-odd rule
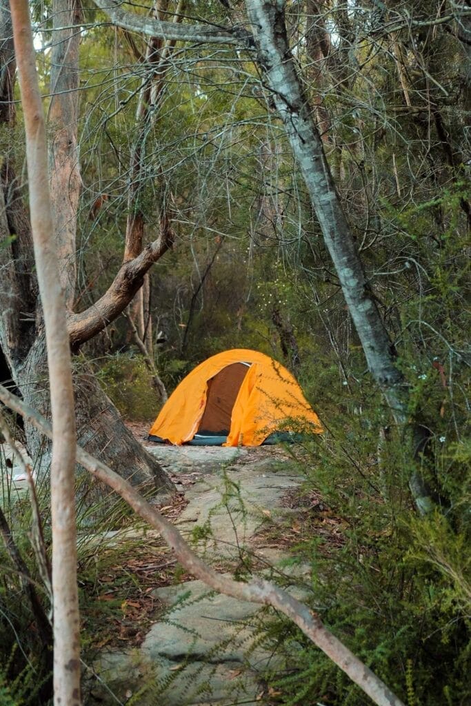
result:
[[[51,438],[51,425],[39,412],[21,402],[18,397],[0,385],[0,400],[14,412],[21,414],[26,421]],[[76,448],[77,461],[83,465],[95,478],[106,483],[116,491],[131,508],[146,520],[149,525],[160,532],[162,538],[174,551],[179,563],[193,576],[205,582],[210,588],[251,603],[261,603],[273,606],[285,614],[303,631],[307,637],[320,647],[345,674],[350,676],[364,693],[378,706],[404,706],[380,678],[374,674],[358,657],[355,657],[335,635],[329,632],[317,614],[280,589],[264,579],[254,579],[241,583],[222,576],[205,564],[185,542],[178,530],[168,522],[150,503],[136,491],[128,481],[98,461],[80,446]]]

